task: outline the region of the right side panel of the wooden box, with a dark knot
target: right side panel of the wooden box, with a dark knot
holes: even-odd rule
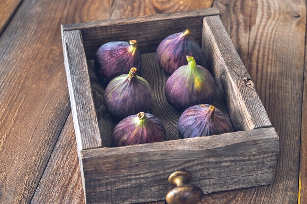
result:
[[[236,131],[272,124],[219,16],[204,18],[202,50]]]

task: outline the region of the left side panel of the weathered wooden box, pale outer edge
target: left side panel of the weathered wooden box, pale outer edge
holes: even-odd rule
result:
[[[62,38],[78,150],[102,147],[81,31],[64,31]]]

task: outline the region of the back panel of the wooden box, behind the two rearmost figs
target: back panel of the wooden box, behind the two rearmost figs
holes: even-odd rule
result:
[[[203,17],[219,14],[216,8],[178,12],[172,14],[111,19],[80,25],[64,25],[63,30],[80,29],[86,57],[93,59],[95,52],[104,43],[116,40],[137,40],[141,53],[154,52],[159,43],[186,28],[192,30],[194,39],[201,43]],[[154,29],[153,29],[154,27]]]

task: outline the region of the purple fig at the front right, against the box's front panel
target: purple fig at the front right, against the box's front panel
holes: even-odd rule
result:
[[[209,104],[194,105],[186,109],[177,124],[181,138],[202,137],[231,131],[229,119]]]

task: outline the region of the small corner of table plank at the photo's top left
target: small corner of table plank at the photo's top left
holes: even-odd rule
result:
[[[0,35],[23,0],[0,1]]]

